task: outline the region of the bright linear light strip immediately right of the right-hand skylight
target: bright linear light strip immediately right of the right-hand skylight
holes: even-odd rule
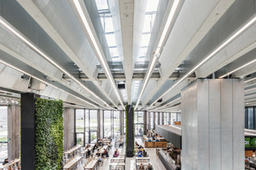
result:
[[[178,3],[179,3],[180,0],[174,0],[174,2],[172,3],[172,8],[171,8],[171,11],[168,15],[168,18],[166,20],[166,25],[164,27],[164,30],[162,31],[162,34],[160,36],[160,41],[158,42],[158,45],[156,46],[156,50],[154,52],[154,55],[153,55],[153,59],[152,59],[152,62],[151,64],[149,65],[149,69],[147,71],[147,75],[144,79],[144,82],[143,82],[143,88],[139,94],[139,97],[137,99],[137,103],[135,105],[135,108],[134,110],[137,109],[137,105],[139,104],[142,96],[143,96],[143,93],[144,93],[144,90],[148,84],[148,81],[149,81],[149,78],[151,77],[151,74],[152,74],[152,71],[154,71],[154,65],[156,64],[157,60],[159,59],[160,57],[160,51],[161,49],[163,48],[163,42],[166,38],[166,34],[167,34],[167,31],[169,30],[170,26],[171,26],[171,23],[172,23],[172,19],[173,19],[173,16],[177,10],[177,6],[178,6]]]

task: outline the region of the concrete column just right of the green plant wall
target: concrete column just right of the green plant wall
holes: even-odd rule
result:
[[[69,150],[75,144],[75,110],[64,109],[64,150]]]

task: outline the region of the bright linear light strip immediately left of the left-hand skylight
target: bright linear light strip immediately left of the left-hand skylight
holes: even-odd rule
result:
[[[77,8],[77,10],[79,12],[79,16],[80,16],[81,20],[83,21],[84,27],[85,27],[86,31],[88,32],[90,40],[93,43],[94,48],[96,49],[96,54],[99,57],[99,60],[101,62],[101,65],[102,65],[105,73],[106,73],[106,76],[108,77],[108,80],[110,81],[110,83],[111,83],[111,85],[113,87],[113,90],[114,90],[115,94],[117,95],[117,97],[118,97],[118,99],[120,101],[120,104],[122,105],[123,109],[125,110],[125,106],[124,106],[123,101],[122,101],[122,99],[121,99],[121,97],[119,95],[119,91],[116,88],[116,85],[115,85],[115,83],[113,81],[113,77],[111,75],[111,72],[109,71],[107,62],[105,61],[105,59],[103,57],[103,54],[102,54],[102,51],[101,51],[101,49],[99,48],[99,46],[98,46],[98,44],[96,42],[96,37],[94,37],[93,32],[90,29],[90,25],[89,25],[89,23],[88,23],[88,21],[87,21],[87,19],[85,17],[84,11],[83,11],[80,3],[79,3],[79,0],[73,0],[73,3],[75,5],[75,7]]]

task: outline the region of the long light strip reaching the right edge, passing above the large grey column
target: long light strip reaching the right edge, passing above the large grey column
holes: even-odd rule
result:
[[[183,82],[183,80],[187,77],[189,77],[190,74],[192,74],[198,67],[205,64],[208,59],[211,59],[215,54],[217,54],[222,48],[224,48],[228,43],[233,41],[236,37],[238,37],[243,31],[245,31],[249,26],[251,26],[256,20],[256,16],[253,17],[252,20],[247,22],[245,26],[242,26],[241,29],[236,31],[235,34],[233,34],[230,38],[228,38],[225,42],[223,42],[218,48],[216,48],[214,51],[212,51],[211,54],[209,54],[205,59],[203,59],[198,65],[195,65],[193,69],[191,69],[187,74],[185,74],[183,77],[181,77],[177,82],[175,82],[171,88],[169,88],[164,94],[162,94],[158,99],[156,99],[150,106],[154,105],[157,100],[161,99],[164,95],[168,94],[173,88],[175,88],[180,82]]]

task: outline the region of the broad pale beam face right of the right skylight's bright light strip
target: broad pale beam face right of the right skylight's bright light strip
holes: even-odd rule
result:
[[[215,1],[214,4],[208,3],[207,1],[185,1],[183,7],[178,15],[178,18],[175,22],[175,25],[172,28],[172,32],[166,41],[165,48],[163,49],[160,56],[161,63],[161,72],[160,79],[157,82],[157,86],[152,90],[147,90],[147,99],[144,99],[144,105],[148,104],[149,100],[154,97],[154,94],[162,87],[166,82],[168,77],[177,69],[184,59],[193,51],[197,44],[201,42],[203,37],[207,35],[207,32],[211,30],[212,26],[221,18],[225,11],[230,8],[232,1]],[[201,5],[200,8],[197,8],[198,5]],[[207,9],[204,8],[204,5],[208,5]],[[196,12],[195,12],[196,10]],[[196,15],[189,15],[189,13],[199,13],[201,11],[202,17],[199,17],[200,20],[193,20],[193,17]],[[216,15],[218,14],[218,15]],[[188,16],[189,15],[189,16]],[[203,18],[204,17],[204,18]],[[192,21],[189,21],[192,20]],[[187,26],[189,22],[191,25]],[[188,24],[189,24],[188,23]],[[185,29],[185,27],[189,29]],[[184,36],[181,32],[186,32]],[[176,40],[177,41],[174,41]],[[175,53],[174,53],[175,52]],[[170,55],[172,53],[172,55]]]

